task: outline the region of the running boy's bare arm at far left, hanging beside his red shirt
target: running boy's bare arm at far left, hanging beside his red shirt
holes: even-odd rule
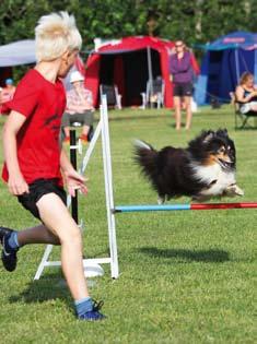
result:
[[[11,111],[2,133],[4,159],[9,171],[8,187],[9,191],[15,195],[28,192],[28,186],[19,166],[16,150],[16,134],[25,120],[26,117],[22,114]]]

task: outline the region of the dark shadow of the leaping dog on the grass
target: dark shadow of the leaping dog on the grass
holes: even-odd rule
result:
[[[156,258],[182,258],[189,261],[207,263],[221,263],[230,260],[229,253],[222,250],[191,251],[185,249],[159,249],[155,247],[142,247],[139,250],[142,253]]]

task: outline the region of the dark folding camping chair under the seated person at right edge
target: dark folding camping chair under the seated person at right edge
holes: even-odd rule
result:
[[[234,106],[234,118],[235,118],[235,129],[253,129],[257,128],[257,112],[248,111],[246,114],[242,114],[240,110],[240,104],[236,102],[236,96],[234,92],[230,93],[231,104]],[[255,124],[249,123],[249,119],[255,118]]]

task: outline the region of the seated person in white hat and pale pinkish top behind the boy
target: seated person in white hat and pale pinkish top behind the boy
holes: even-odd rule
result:
[[[70,142],[70,126],[78,122],[82,124],[81,141],[90,141],[90,132],[94,120],[94,107],[92,92],[84,87],[84,76],[74,71],[70,75],[72,90],[67,92],[67,108],[62,117],[65,142]]]

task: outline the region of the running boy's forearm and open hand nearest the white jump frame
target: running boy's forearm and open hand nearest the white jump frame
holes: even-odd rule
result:
[[[63,173],[68,192],[74,197],[75,190],[80,189],[82,193],[86,194],[85,178],[73,168],[63,147],[60,154],[60,167]]]

